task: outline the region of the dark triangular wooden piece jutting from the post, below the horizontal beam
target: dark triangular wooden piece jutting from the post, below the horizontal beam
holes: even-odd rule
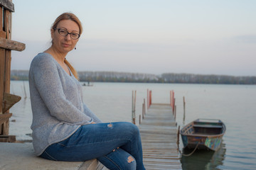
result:
[[[21,96],[16,96],[14,94],[4,93],[4,98],[2,101],[2,113],[6,113],[15,103],[21,100]]]

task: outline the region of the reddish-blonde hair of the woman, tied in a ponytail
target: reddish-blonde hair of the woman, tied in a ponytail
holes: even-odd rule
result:
[[[80,22],[78,17],[75,16],[75,14],[73,14],[73,13],[63,13],[60,16],[58,16],[58,18],[55,19],[53,25],[51,26],[51,29],[56,28],[58,26],[58,23],[63,20],[71,20],[71,21],[74,21],[75,23],[77,23],[79,26],[79,34],[80,35],[82,34],[82,23]],[[70,68],[70,71],[75,76],[75,78],[79,79],[78,72],[75,71],[74,67],[68,62],[68,60],[65,59],[64,62],[65,62],[65,64],[68,65],[68,67]]]

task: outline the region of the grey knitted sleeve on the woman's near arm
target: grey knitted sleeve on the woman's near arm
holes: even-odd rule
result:
[[[82,113],[66,99],[59,70],[50,57],[38,57],[33,60],[30,79],[38,91],[38,93],[34,93],[39,95],[36,98],[41,98],[39,101],[43,101],[42,104],[46,105],[50,115],[63,123],[72,125],[92,123],[92,118]],[[72,93],[72,89],[70,89],[70,93]]]

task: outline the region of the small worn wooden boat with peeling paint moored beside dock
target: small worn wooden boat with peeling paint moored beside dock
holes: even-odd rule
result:
[[[197,119],[181,129],[184,148],[210,149],[220,148],[225,134],[225,125],[218,119]]]

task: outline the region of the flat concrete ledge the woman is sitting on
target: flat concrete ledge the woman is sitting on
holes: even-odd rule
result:
[[[0,142],[0,169],[100,170],[106,168],[97,159],[87,162],[55,162],[36,157],[31,143]]]

